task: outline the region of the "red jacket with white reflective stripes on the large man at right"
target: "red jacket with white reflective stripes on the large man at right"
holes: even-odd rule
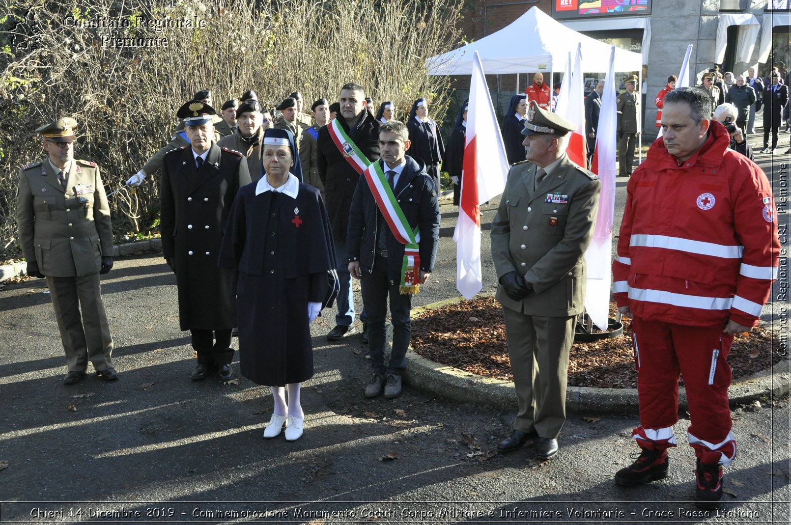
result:
[[[612,265],[615,300],[633,315],[758,323],[777,278],[777,210],[761,168],[728,145],[725,127],[712,123],[679,166],[657,138],[634,171]]]

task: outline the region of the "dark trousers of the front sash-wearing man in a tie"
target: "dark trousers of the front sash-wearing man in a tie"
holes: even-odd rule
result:
[[[377,257],[373,260],[373,271],[362,274],[362,302],[368,315],[368,348],[373,372],[400,376],[407,368],[407,347],[412,337],[409,311],[412,296],[399,293],[400,282],[388,279],[388,259]],[[384,345],[387,330],[384,319],[388,314],[390,298],[390,317],[393,323],[393,346],[390,363],[384,364]]]

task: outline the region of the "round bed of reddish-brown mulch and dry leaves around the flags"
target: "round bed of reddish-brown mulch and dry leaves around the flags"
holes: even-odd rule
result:
[[[610,304],[615,317],[615,303]],[[576,342],[571,348],[569,386],[634,388],[637,371],[630,338],[630,319],[623,335],[596,342]],[[431,361],[479,376],[513,381],[502,308],[494,297],[483,297],[426,310],[412,320],[412,348]],[[764,328],[736,335],[728,357],[733,379],[751,376],[780,361],[773,351],[778,336]],[[682,380],[683,384],[683,380]]]

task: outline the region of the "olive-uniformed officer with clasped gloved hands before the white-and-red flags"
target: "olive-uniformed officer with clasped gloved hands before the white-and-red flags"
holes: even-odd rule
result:
[[[549,459],[566,421],[566,374],[574,327],[585,302],[585,250],[590,244],[601,183],[566,156],[575,124],[530,104],[522,134],[527,161],[514,164],[491,229],[496,298],[517,387],[513,451],[539,438]]]

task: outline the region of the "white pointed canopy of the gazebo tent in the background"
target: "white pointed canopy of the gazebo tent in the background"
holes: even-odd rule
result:
[[[430,75],[472,74],[473,51],[478,51],[486,74],[553,72],[565,68],[578,42],[582,43],[582,70],[606,72],[610,44],[567,28],[534,6],[498,32],[426,59],[426,70]],[[615,70],[638,71],[642,77],[641,55],[616,49]]]

